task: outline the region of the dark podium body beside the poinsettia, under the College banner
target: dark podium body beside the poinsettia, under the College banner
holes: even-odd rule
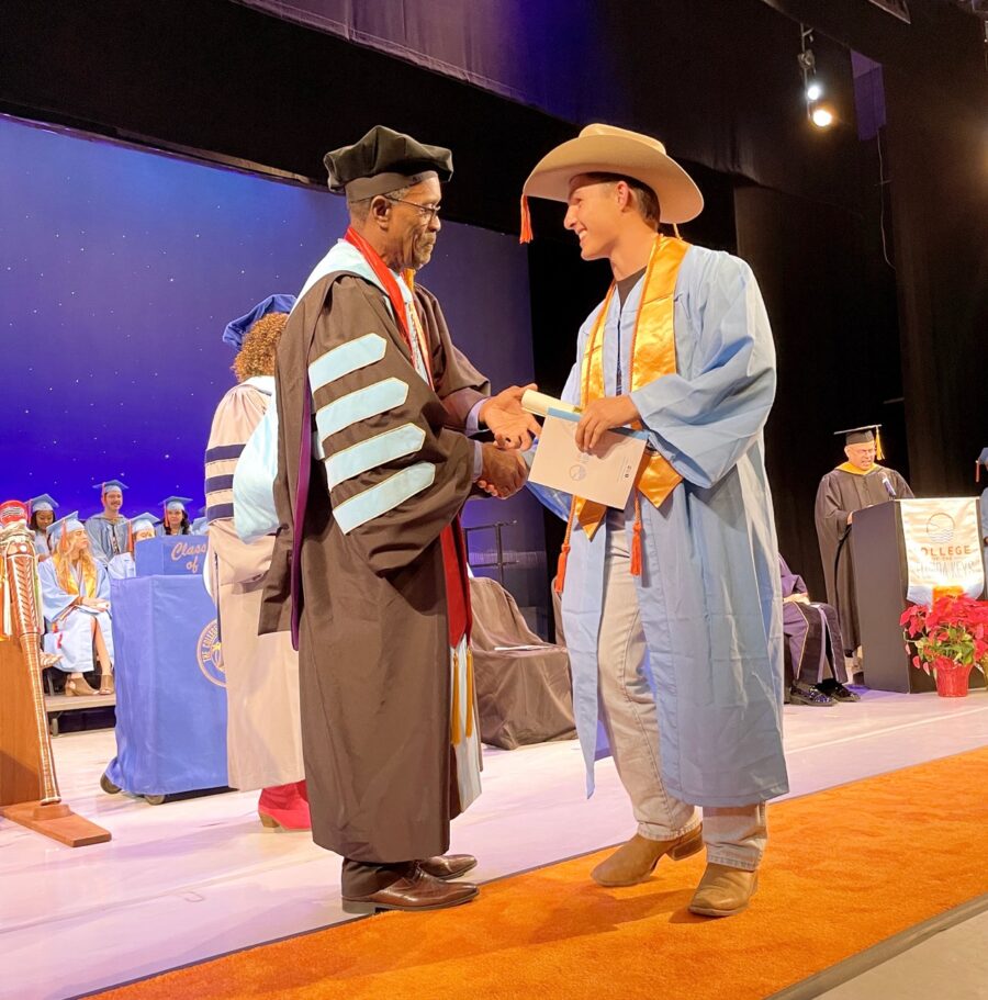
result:
[[[865,684],[910,694],[936,690],[936,683],[911,664],[899,625],[909,589],[902,503],[896,499],[855,510],[850,541]],[[968,683],[984,687],[984,675],[972,671]]]

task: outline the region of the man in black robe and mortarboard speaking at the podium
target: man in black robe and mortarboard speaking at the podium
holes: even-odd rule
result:
[[[898,472],[875,461],[883,457],[878,448],[879,426],[872,424],[838,431],[844,436],[847,461],[828,472],[817,490],[817,539],[827,581],[827,600],[840,616],[844,653],[849,656],[861,645],[854,570],[847,546],[854,512],[912,496],[909,483]]]

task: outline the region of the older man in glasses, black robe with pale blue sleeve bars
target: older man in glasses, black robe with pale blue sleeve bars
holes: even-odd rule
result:
[[[344,857],[348,912],[456,906],[469,855],[444,856],[480,793],[458,517],[478,481],[507,495],[538,425],[489,384],[409,273],[440,229],[448,149],[377,126],[326,156],[350,228],[282,335],[274,499],[281,527],[261,631],[297,643],[315,842]],[[289,615],[289,613],[291,613]]]

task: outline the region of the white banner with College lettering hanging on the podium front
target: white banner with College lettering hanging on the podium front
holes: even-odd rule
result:
[[[985,591],[985,563],[974,497],[900,501],[907,598],[932,604],[946,589],[980,597]]]

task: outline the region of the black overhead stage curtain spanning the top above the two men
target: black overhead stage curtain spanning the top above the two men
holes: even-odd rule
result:
[[[307,5],[278,4],[296,15]],[[853,135],[834,132],[822,147],[807,136],[798,26],[760,0],[579,0],[560,3],[558,18],[542,4],[487,0],[481,13],[460,0],[326,7],[327,25],[333,9],[352,9],[350,35],[363,44],[369,11],[401,8],[388,30],[406,42],[428,36],[423,19],[440,19],[444,37],[496,46],[523,97],[228,0],[21,0],[4,11],[0,110],[316,182],[327,148],[384,122],[452,147],[450,211],[502,231],[517,232],[536,160],[591,121],[649,132],[680,158],[779,190],[853,200]],[[481,30],[497,10],[515,18],[502,24],[510,31]],[[846,50],[821,40],[817,58],[850,106]]]

